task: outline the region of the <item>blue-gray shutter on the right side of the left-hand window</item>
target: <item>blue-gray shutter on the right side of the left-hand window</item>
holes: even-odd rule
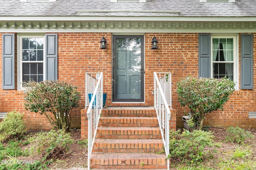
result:
[[[46,34],[46,80],[58,79],[58,34]]]

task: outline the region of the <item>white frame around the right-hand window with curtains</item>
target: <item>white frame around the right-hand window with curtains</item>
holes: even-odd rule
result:
[[[234,82],[236,83],[235,90],[239,89],[239,37],[238,35],[225,35],[225,34],[219,34],[219,35],[211,35],[211,78],[213,78],[213,52],[212,52],[212,39],[214,38],[232,38],[234,43],[234,50],[233,50],[233,56],[234,56]]]

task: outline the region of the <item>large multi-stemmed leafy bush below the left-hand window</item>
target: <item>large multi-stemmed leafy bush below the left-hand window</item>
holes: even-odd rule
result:
[[[54,128],[69,131],[72,109],[79,106],[77,87],[56,80],[29,81],[24,86],[25,109],[44,114]]]

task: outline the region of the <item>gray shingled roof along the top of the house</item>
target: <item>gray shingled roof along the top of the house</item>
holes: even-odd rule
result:
[[[146,0],[146,2],[0,0],[0,16],[255,17],[256,0],[236,0],[231,3],[206,3],[200,0]]]

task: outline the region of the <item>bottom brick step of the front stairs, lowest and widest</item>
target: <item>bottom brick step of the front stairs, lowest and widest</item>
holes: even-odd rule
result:
[[[102,169],[164,169],[167,160],[165,154],[156,153],[93,153],[90,163]]]

